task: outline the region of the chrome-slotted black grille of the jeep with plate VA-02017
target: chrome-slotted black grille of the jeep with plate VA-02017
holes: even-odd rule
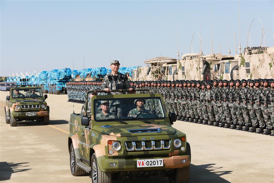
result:
[[[149,151],[170,149],[171,140],[125,142],[127,151]]]

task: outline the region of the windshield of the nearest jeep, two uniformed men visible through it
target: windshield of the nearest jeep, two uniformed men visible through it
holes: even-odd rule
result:
[[[94,100],[93,108],[96,121],[137,119],[144,123],[150,123],[144,119],[165,118],[165,112],[160,97]]]

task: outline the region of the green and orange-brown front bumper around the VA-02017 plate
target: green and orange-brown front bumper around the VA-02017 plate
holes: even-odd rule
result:
[[[136,159],[107,159],[103,157],[97,158],[98,167],[101,171],[146,171],[146,170],[164,170],[182,168],[190,165],[189,155],[171,156],[171,157],[157,157],[157,159],[163,159],[162,167],[139,167],[137,168],[138,159],[154,159],[154,158],[136,158]],[[185,160],[186,163],[181,163],[181,160]],[[115,167],[110,167],[110,163],[116,163]]]

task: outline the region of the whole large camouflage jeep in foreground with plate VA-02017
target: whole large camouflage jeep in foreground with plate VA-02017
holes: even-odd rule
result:
[[[87,96],[86,109],[87,111]],[[71,114],[68,149],[74,176],[91,173],[93,183],[117,178],[163,176],[188,182],[190,145],[174,129],[160,94],[97,95],[87,113]]]

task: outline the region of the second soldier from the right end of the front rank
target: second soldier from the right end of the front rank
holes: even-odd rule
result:
[[[263,90],[262,93],[260,95],[261,97],[261,110],[262,110],[262,114],[264,116],[264,120],[265,120],[265,125],[266,125],[266,132],[263,133],[265,135],[270,135],[271,134],[271,130],[272,130],[272,123],[271,123],[271,119],[270,119],[270,114],[269,114],[269,110],[268,110],[268,105],[270,104],[269,102],[269,81],[267,79],[263,80]]]

